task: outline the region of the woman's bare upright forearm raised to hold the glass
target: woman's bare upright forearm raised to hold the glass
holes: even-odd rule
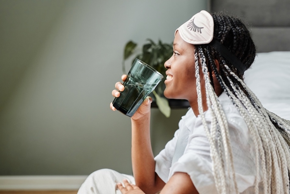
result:
[[[142,117],[132,117],[132,167],[136,185],[146,194],[160,191],[165,183],[155,173],[155,161],[150,140],[150,103],[146,99]]]

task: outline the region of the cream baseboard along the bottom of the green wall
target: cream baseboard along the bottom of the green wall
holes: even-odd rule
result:
[[[0,190],[78,190],[87,176],[0,176]]]

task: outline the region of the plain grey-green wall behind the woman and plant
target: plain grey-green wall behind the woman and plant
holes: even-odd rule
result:
[[[132,174],[130,118],[109,108],[125,43],[171,43],[175,29],[208,5],[0,0],[0,175]],[[186,112],[166,118],[151,109],[154,155]]]

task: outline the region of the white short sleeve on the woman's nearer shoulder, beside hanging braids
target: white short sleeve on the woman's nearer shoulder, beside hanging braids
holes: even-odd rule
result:
[[[210,127],[210,122],[207,123]],[[189,135],[184,154],[172,165],[169,178],[175,172],[187,173],[199,194],[217,193],[212,174],[209,141],[200,119],[196,120],[194,130]]]

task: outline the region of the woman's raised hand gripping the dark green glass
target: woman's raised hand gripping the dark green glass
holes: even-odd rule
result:
[[[123,81],[125,81],[127,78],[127,75],[122,75],[121,79]],[[121,82],[117,82],[115,84],[115,88],[117,90],[113,90],[112,91],[112,95],[114,97],[120,97],[120,92],[119,91],[124,91],[125,87],[123,86],[123,84]],[[118,91],[119,90],[119,91]],[[142,120],[143,118],[145,118],[146,115],[149,115],[150,113],[150,107],[151,107],[151,102],[152,102],[152,98],[150,96],[148,96],[144,102],[141,104],[141,106],[139,107],[139,109],[136,111],[136,113],[131,117],[132,120]],[[111,102],[110,104],[110,108],[112,110],[116,110],[116,108],[113,106],[113,103]]]

